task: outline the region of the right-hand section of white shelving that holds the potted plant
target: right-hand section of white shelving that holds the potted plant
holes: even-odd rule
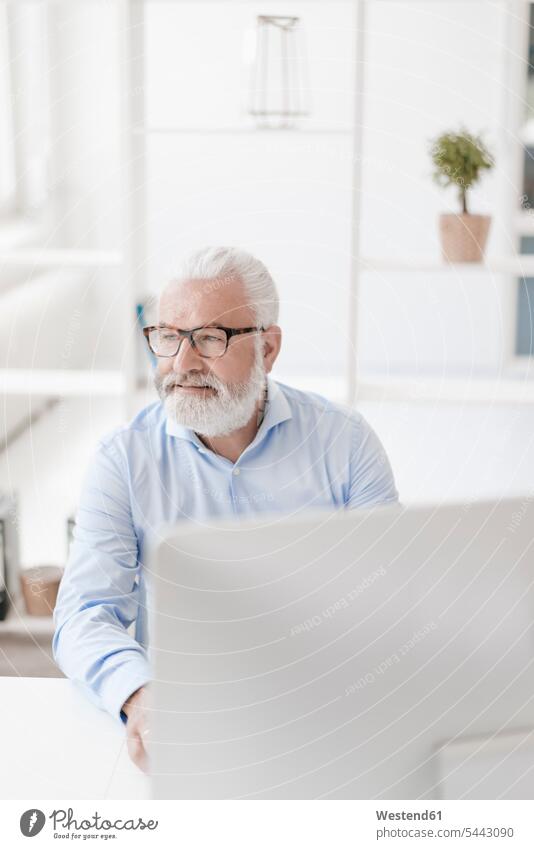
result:
[[[414,398],[429,401],[450,401],[464,403],[475,402],[504,402],[532,403],[534,402],[534,380],[530,369],[524,369],[523,380],[509,377],[517,365],[513,354],[512,339],[515,338],[515,312],[517,278],[534,276],[534,255],[510,254],[506,256],[487,257],[483,263],[445,263],[439,258],[425,256],[409,259],[382,259],[361,255],[361,168],[364,155],[365,125],[365,32],[367,31],[368,7],[372,0],[356,0],[357,2],[357,31],[356,31],[356,98],[355,98],[355,137],[354,137],[354,207],[352,222],[352,271],[348,310],[349,346],[347,354],[347,401],[354,403],[358,400],[397,400],[407,401]],[[398,0],[402,3],[403,0]],[[515,186],[522,184],[522,155],[523,155],[523,125],[524,116],[522,105],[526,92],[526,61],[528,56],[529,4],[530,0],[503,0],[506,9],[507,32],[503,39],[503,68],[504,79],[500,103],[503,139],[502,149],[508,157],[504,169],[507,179],[501,187],[502,202],[508,212],[508,220],[513,221],[516,235],[534,235],[534,211],[518,211],[519,198]],[[515,96],[511,96],[513,93]],[[511,149],[509,139],[515,144]],[[509,314],[504,317],[504,323],[509,335],[510,363],[505,364],[502,374],[491,380],[473,376],[472,379],[456,379],[439,377],[427,379],[385,376],[383,379],[362,377],[358,373],[358,313],[357,303],[362,274],[367,273],[411,273],[429,274],[445,273],[456,276],[469,276],[486,273],[489,275],[505,275],[510,278],[510,286],[515,286],[511,294]],[[429,281],[430,285],[431,281]],[[509,368],[511,366],[511,368]],[[534,369],[532,369],[534,373]]]

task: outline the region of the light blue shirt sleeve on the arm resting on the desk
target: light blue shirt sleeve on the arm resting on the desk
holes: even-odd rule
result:
[[[100,444],[86,473],[54,610],[54,658],[117,720],[150,679],[145,647],[128,633],[140,604],[137,536],[119,453]]]

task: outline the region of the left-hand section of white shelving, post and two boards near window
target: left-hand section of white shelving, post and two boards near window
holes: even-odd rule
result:
[[[78,0],[83,6],[88,0]],[[136,162],[137,147],[133,134],[133,126],[143,121],[142,111],[136,107],[142,103],[142,95],[136,88],[142,80],[136,79],[142,62],[137,59],[135,51],[138,45],[136,33],[142,39],[142,32],[137,30],[138,19],[142,22],[143,0],[114,0],[118,9],[120,25],[119,57],[120,57],[120,154],[117,169],[120,170],[120,206],[122,235],[120,244],[114,250],[85,250],[76,248],[52,248],[38,246],[39,233],[30,233],[24,238],[15,238],[20,225],[13,225],[11,234],[3,240],[0,247],[0,268],[4,271],[27,271],[28,278],[37,279],[40,272],[45,270],[72,269],[87,271],[91,274],[101,270],[117,272],[118,287],[114,290],[114,299],[120,302],[122,319],[121,361],[115,369],[95,370],[91,368],[91,357],[87,357],[87,368],[70,369],[57,367],[52,369],[20,369],[9,367],[0,369],[0,388],[4,395],[41,395],[50,397],[119,397],[124,405],[125,415],[133,411],[132,397],[137,388],[137,364],[135,356],[135,306],[137,293],[141,291],[139,269],[144,258],[142,232],[139,222],[144,220],[142,199],[137,200],[137,207],[132,198],[135,195],[134,186],[139,178],[142,163]],[[18,0],[8,0],[7,20],[12,28],[16,51],[17,32],[20,31],[18,20],[24,12],[24,3]],[[69,4],[65,4],[66,6]],[[13,59],[13,57],[11,57]],[[13,62],[15,59],[13,59]],[[18,67],[18,66],[17,66]],[[15,69],[17,70],[17,69]],[[14,81],[16,82],[16,81]],[[142,144],[142,142],[140,142]],[[113,199],[115,202],[115,199]],[[38,228],[37,228],[38,230]],[[33,244],[36,243],[36,245]],[[20,247],[18,245],[20,244]],[[15,247],[17,246],[17,247]],[[68,283],[66,284],[68,285]],[[90,285],[90,281],[89,281]],[[118,292],[118,294],[117,294]],[[67,365],[67,364],[66,364]]]

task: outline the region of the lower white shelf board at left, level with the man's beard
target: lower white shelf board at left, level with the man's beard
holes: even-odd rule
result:
[[[126,380],[120,371],[89,369],[0,369],[0,392],[5,395],[121,396]]]

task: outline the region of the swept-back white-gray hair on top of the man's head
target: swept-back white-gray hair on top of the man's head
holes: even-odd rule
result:
[[[240,248],[208,247],[190,254],[174,282],[238,278],[261,327],[278,322],[278,292],[266,266]]]

